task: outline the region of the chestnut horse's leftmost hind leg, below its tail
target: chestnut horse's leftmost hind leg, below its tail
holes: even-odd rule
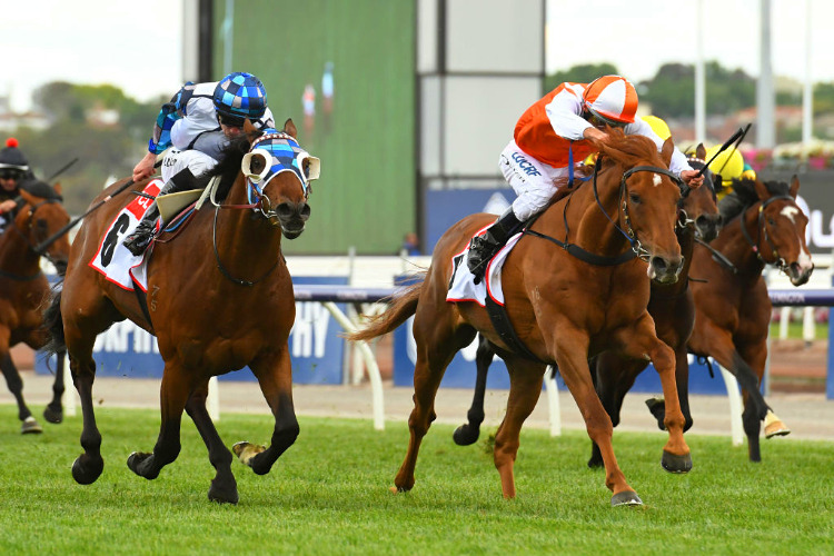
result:
[[[423,304],[423,301],[420,301]],[[445,306],[446,301],[441,301]],[[414,487],[414,469],[423,437],[435,420],[435,397],[440,380],[455,354],[468,345],[475,337],[469,326],[454,328],[451,315],[438,315],[429,308],[434,304],[417,308],[414,322],[414,335],[417,340],[417,363],[414,367],[414,409],[408,417],[410,439],[405,460],[394,478],[393,492],[406,492]],[[446,307],[443,307],[446,309]]]

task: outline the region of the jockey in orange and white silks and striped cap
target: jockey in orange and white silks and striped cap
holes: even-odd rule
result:
[[[623,77],[604,76],[590,83],[562,83],[522,115],[499,158],[502,172],[518,197],[483,236],[473,238],[467,264],[476,281],[523,221],[568,192],[574,167],[594,150],[589,139],[608,138],[606,126],[646,136],[658,150],[663,147],[647,122],[635,120],[636,111],[634,86]],[[669,166],[691,187],[703,182],[678,149]]]

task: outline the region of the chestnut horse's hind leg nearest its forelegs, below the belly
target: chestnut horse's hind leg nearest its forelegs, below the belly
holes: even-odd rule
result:
[[[515,498],[516,483],[513,467],[518,454],[518,437],[524,421],[536,407],[542,394],[545,365],[524,359],[506,360],[509,369],[509,398],[507,414],[495,435],[493,450],[495,468],[502,478],[502,492],[505,498]]]

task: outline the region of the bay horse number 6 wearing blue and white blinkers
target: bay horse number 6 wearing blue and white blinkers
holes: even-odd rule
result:
[[[165,359],[159,438],[152,453],[130,455],[128,467],[133,473],[153,479],[177,458],[185,409],[217,470],[209,499],[237,503],[232,455],[208,415],[206,396],[210,377],[247,365],[272,410],[275,429],[269,448],[238,443],[236,454],[264,475],[296,440],[299,428],[287,346],[295,300],[281,255],[281,234],[294,239],[305,229],[310,214],[309,179],[318,177],[318,159],[300,149],[295,137],[291,120],[282,132],[267,130],[261,136],[247,122],[246,136],[229,146],[212,170],[221,178],[216,198],[228,193],[225,200],[214,210],[195,211],[173,240],[163,236],[155,244],[147,274],[147,310],[133,291],[115,286],[88,265],[108,226],[132,197],[105,205],[85,219],[72,244],[63,290],[49,311],[54,345],[66,342],[83,410],[85,453],[72,466],[78,483],[95,481],[105,464],[93,415],[92,346],[99,332],[125,318],[157,335]],[[100,198],[117,187],[110,186]]]

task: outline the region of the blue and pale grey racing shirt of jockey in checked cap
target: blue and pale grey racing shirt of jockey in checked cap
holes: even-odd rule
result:
[[[212,95],[217,82],[187,82],[170,102],[162,105],[153,126],[153,137],[148,150],[159,155],[168,147],[178,150],[195,149],[219,159],[228,139],[217,122]],[[264,116],[252,120],[258,129],[274,128],[272,112],[267,108]]]

